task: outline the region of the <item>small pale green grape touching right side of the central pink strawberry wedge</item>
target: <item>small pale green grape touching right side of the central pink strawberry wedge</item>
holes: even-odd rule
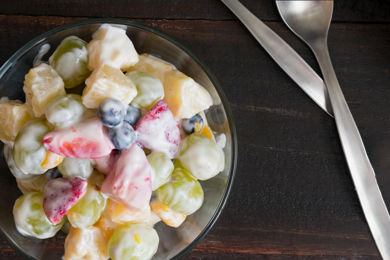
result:
[[[146,159],[151,166],[152,191],[155,191],[169,180],[174,166],[163,152],[151,152]]]

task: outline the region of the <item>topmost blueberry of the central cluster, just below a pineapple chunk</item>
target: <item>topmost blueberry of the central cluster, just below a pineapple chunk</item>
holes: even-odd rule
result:
[[[97,116],[106,127],[114,127],[123,121],[126,115],[126,107],[118,99],[106,98],[97,108]]]

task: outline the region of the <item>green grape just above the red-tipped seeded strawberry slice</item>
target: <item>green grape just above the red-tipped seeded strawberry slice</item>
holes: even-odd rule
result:
[[[164,87],[161,81],[144,72],[131,71],[126,76],[137,87],[137,96],[131,101],[131,105],[137,108],[151,108],[157,101],[164,97]]]

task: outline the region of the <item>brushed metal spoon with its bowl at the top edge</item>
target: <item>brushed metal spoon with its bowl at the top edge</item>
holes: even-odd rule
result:
[[[285,24],[312,49],[317,58],[364,215],[379,252],[384,259],[390,259],[390,216],[328,53],[326,41],[333,1],[276,1],[276,4]]]

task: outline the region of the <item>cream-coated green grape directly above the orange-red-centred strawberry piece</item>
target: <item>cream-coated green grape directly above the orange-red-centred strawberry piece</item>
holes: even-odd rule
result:
[[[86,108],[78,94],[56,97],[45,110],[46,119],[55,127],[71,126],[93,115],[97,115],[96,111]]]

